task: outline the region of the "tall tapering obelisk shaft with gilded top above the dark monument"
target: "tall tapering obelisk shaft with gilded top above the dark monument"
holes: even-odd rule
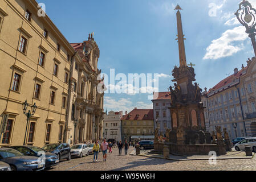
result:
[[[180,67],[186,67],[186,53],[185,53],[185,45],[184,45],[184,34],[182,30],[182,22],[181,22],[181,14],[179,10],[182,10],[179,5],[176,6],[175,10],[177,11],[177,28],[178,28],[178,52],[180,55]]]

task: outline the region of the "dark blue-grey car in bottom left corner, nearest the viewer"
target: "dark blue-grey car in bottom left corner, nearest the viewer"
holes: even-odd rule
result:
[[[26,156],[13,148],[0,148],[0,161],[10,165],[12,171],[41,171],[43,159]]]

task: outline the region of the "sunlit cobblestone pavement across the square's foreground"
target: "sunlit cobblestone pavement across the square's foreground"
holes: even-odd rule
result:
[[[174,161],[145,156],[129,155],[133,150],[130,147],[128,155],[118,156],[117,148],[113,148],[113,153],[107,155],[107,162],[103,162],[102,152],[99,154],[98,162],[92,160],[94,155],[75,158],[70,161],[61,160],[58,166],[52,167],[51,171],[183,171],[183,170],[254,170],[256,171],[256,156],[253,159],[230,159],[217,160],[216,165],[210,165],[208,160]]]

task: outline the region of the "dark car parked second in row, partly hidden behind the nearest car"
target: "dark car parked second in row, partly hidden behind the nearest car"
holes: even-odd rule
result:
[[[56,166],[59,163],[59,158],[56,154],[52,154],[50,152],[47,152],[43,150],[43,148],[35,147],[35,146],[11,146],[10,148],[14,148],[15,150],[18,150],[23,155],[28,156],[37,156],[40,157],[42,154],[41,152],[44,152],[45,155],[45,168],[50,168],[52,166]]]

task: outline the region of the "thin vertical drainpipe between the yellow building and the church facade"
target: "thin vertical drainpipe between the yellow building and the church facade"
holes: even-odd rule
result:
[[[74,56],[76,55],[76,52],[74,53],[74,55],[71,57],[71,66],[70,66],[70,78],[73,76],[73,65],[74,65]],[[71,98],[71,79],[69,79],[68,81],[68,98],[67,98],[67,109],[66,109],[66,125],[65,125],[65,129],[64,129],[64,138],[63,140],[66,141],[67,139],[67,130],[68,130],[68,116],[70,114],[70,98]],[[75,137],[75,136],[74,136]],[[73,138],[74,138],[73,137]],[[68,142],[68,141],[67,141]],[[74,142],[75,142],[75,138],[74,138]],[[74,144],[74,143],[73,143]]]

